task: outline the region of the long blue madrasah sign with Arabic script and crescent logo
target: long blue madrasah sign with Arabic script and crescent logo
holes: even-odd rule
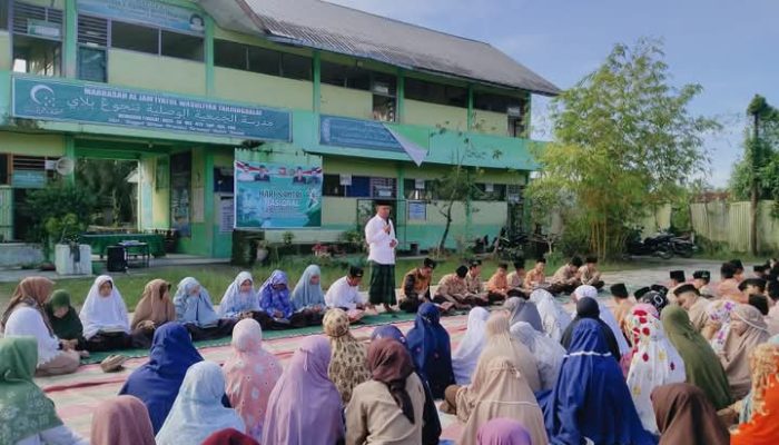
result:
[[[12,113],[18,118],[207,136],[292,139],[288,111],[41,78],[13,78]]]

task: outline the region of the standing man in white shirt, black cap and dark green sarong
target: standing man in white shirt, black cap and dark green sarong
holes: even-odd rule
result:
[[[389,219],[392,206],[387,201],[376,204],[376,216],[365,225],[365,241],[368,244],[371,261],[372,305],[384,305],[384,310],[395,313],[395,227]]]

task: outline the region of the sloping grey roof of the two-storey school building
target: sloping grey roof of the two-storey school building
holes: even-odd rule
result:
[[[489,43],[321,0],[199,0],[225,29],[538,95],[549,80]]]

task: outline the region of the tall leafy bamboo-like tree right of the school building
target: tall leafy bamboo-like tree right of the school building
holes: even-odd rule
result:
[[[669,77],[661,42],[640,39],[615,44],[552,101],[553,140],[536,154],[543,175],[529,195],[564,202],[601,258],[621,253],[630,226],[708,165],[703,136],[719,125],[688,110],[699,85],[676,88]]]

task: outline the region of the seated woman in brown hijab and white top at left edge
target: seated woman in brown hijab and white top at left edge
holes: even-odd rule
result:
[[[3,315],[6,337],[34,337],[38,344],[38,376],[72,374],[81,357],[75,344],[57,338],[43,304],[51,294],[53,281],[43,277],[22,279],[13,290]]]

